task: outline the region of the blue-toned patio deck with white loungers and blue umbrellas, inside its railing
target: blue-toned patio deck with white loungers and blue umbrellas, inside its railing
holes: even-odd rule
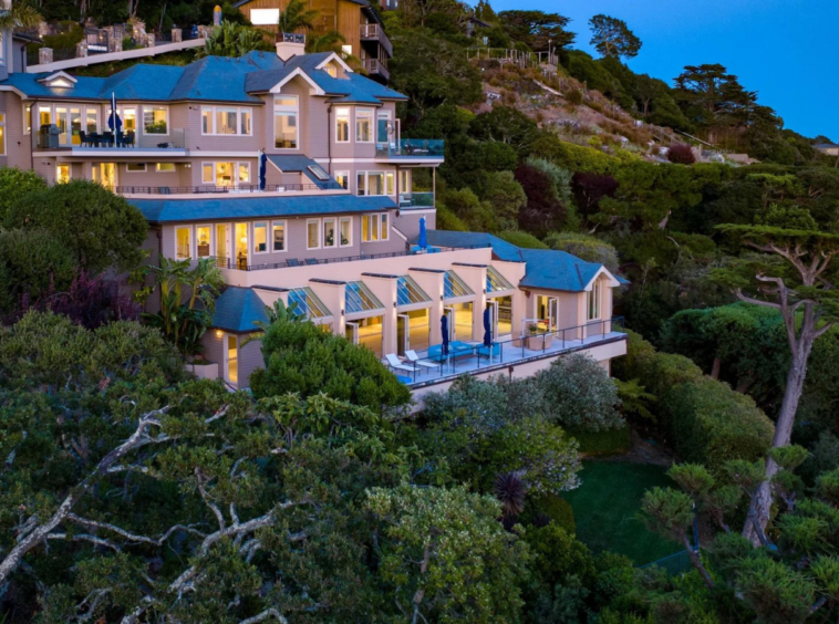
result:
[[[600,324],[605,325],[603,322]],[[608,324],[610,326],[604,329],[609,331],[605,332],[598,327],[597,323],[587,325],[583,337],[574,337],[581,327],[529,336],[524,341],[520,337],[507,336],[494,341],[491,349],[481,342],[453,342],[449,345],[449,354],[445,357],[441,355],[441,345],[433,345],[429,350],[418,351],[417,354],[425,362],[435,362],[439,365],[438,367],[415,366],[411,372],[400,368],[394,370],[394,373],[412,391],[416,391],[452,382],[467,374],[485,375],[507,372],[511,366],[539,361],[548,361],[547,366],[551,360],[563,353],[586,351],[626,339],[623,332],[623,319],[612,319]],[[402,364],[411,366],[407,361]]]

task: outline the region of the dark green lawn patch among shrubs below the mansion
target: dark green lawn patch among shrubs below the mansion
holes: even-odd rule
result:
[[[582,485],[563,498],[571,503],[577,537],[599,552],[625,554],[638,565],[680,550],[646,530],[641,519],[641,497],[656,486],[672,486],[665,468],[624,461],[582,462]]]

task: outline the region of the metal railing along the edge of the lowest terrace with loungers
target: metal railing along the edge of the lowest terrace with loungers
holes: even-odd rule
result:
[[[478,373],[490,367],[504,368],[506,365],[512,365],[530,358],[540,358],[546,355],[576,351],[587,345],[597,344],[608,337],[614,337],[611,334],[622,334],[624,332],[625,323],[623,316],[614,316],[602,321],[589,321],[582,325],[550,332],[519,334],[518,336],[509,335],[503,340],[491,341],[490,346],[486,346],[484,343],[464,343],[467,345],[467,349],[460,350],[449,346],[449,353],[443,361],[439,361],[441,356],[436,353],[429,354],[429,350],[425,350],[421,352],[422,358],[439,362],[439,373],[435,376],[435,371],[415,366],[412,385],[439,383],[457,378],[466,373]],[[559,345],[553,345],[555,339],[559,342]],[[458,357],[476,357],[474,361],[475,365],[466,367],[462,365],[458,372]],[[481,360],[485,357],[486,362],[484,363]],[[410,365],[410,363],[406,364]],[[419,373],[418,376],[417,373]]]

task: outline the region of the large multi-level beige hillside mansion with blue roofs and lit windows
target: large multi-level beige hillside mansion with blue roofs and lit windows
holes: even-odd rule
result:
[[[607,367],[625,353],[617,275],[435,230],[443,142],[403,139],[405,97],[339,55],[278,41],[276,54],[100,79],[29,72],[4,38],[0,166],[122,194],[149,222],[152,259],[214,258],[228,288],[204,337],[213,364],[197,372],[232,387],[261,366],[260,343],[244,342],[278,299],[391,355],[418,394],[466,372],[529,375],[569,351]],[[424,365],[398,362],[414,352]]]

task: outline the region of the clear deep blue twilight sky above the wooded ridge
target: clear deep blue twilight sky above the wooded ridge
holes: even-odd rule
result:
[[[474,2],[472,2],[474,3]],[[589,45],[589,19],[624,20],[643,41],[629,66],[667,82],[684,65],[722,63],[757,91],[785,126],[839,141],[837,0],[490,0],[493,9],[538,9],[571,18],[574,46]],[[594,55],[597,55],[594,53]]]

